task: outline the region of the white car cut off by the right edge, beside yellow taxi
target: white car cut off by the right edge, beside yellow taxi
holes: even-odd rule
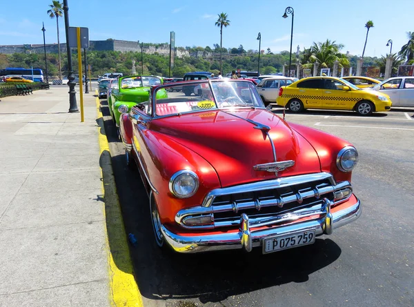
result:
[[[388,95],[393,106],[414,107],[414,77],[393,77],[367,90]]]

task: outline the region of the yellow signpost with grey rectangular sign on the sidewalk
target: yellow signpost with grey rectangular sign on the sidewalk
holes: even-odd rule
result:
[[[83,123],[83,75],[82,75],[81,48],[88,48],[88,47],[89,47],[89,29],[80,28],[80,27],[69,27],[68,48],[77,48],[77,54],[78,54],[79,95],[81,96],[81,122],[82,123]],[[85,76],[85,81],[86,81],[86,76]]]

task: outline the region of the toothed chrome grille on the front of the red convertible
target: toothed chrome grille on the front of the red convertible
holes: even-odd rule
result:
[[[211,229],[239,225],[240,216],[245,213],[253,224],[262,225],[269,220],[277,224],[293,217],[319,214],[324,208],[322,200],[334,204],[334,192],[344,188],[351,189],[351,184],[348,181],[336,184],[326,172],[219,188],[206,196],[202,206],[180,210],[175,220],[186,228]],[[210,215],[212,223],[201,226],[182,223],[185,217],[198,215]]]

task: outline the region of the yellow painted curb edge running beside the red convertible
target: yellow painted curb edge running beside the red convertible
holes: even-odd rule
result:
[[[96,94],[97,90],[95,90]],[[97,103],[97,121],[99,122],[99,148],[101,152],[102,192],[105,199],[106,217],[106,250],[108,253],[110,276],[110,302],[111,306],[144,306],[141,293],[134,278],[134,269],[128,241],[125,234],[124,221],[115,186],[115,177],[112,172],[112,163],[106,135],[101,133],[103,128],[103,115],[100,110],[99,97]],[[110,167],[105,167],[110,166]]]

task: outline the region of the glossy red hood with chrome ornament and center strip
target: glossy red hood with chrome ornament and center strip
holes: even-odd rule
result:
[[[274,162],[266,132],[255,128],[253,121],[270,127],[277,161],[293,160],[294,166],[277,175],[253,169]],[[152,121],[151,129],[204,157],[215,168],[222,187],[321,171],[311,144],[267,110],[212,110],[164,117]]]

